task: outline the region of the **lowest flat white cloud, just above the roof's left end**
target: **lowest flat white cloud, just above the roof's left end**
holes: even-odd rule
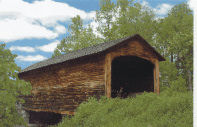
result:
[[[36,62],[36,61],[42,61],[42,60],[45,60],[47,59],[46,57],[42,56],[42,55],[35,55],[35,56],[17,56],[16,57],[16,60],[18,61],[25,61],[25,62]]]

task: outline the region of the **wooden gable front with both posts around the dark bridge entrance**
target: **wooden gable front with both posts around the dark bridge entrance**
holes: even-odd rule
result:
[[[111,63],[114,58],[119,56],[137,56],[143,59],[146,59],[152,62],[154,67],[154,92],[159,93],[159,65],[157,56],[150,51],[146,45],[143,45],[141,42],[132,40],[128,43],[125,43],[121,48],[113,48],[106,54],[105,57],[105,94],[107,97],[111,97]]]

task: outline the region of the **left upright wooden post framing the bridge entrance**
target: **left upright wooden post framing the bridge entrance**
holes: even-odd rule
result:
[[[105,57],[105,95],[111,97],[111,55]]]

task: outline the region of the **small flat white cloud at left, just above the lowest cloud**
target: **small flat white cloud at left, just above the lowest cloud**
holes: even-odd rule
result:
[[[30,46],[11,46],[11,51],[35,52],[35,48]]]

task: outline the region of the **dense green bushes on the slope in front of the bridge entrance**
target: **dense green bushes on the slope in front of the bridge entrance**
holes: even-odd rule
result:
[[[192,92],[185,87],[176,89],[182,80],[160,95],[90,98],[79,106],[75,116],[65,117],[58,127],[192,127]]]

